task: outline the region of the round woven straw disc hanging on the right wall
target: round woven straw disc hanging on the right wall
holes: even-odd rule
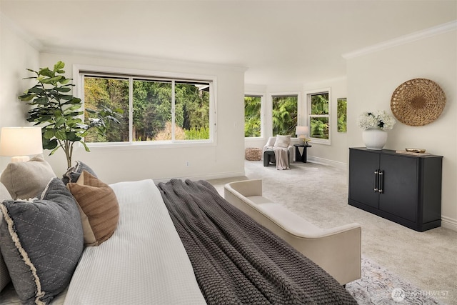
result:
[[[430,79],[411,79],[393,91],[391,111],[403,124],[423,126],[441,115],[446,105],[446,95]]]

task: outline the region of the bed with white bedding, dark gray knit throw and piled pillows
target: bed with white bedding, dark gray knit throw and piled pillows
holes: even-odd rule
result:
[[[41,265],[55,257],[59,261],[63,252],[49,254],[52,256],[45,256],[43,261],[38,256],[33,264],[36,251],[27,245],[26,234],[21,235],[20,224],[14,223],[16,228],[12,231],[18,235],[22,251],[32,262],[29,265],[36,267],[36,271],[32,272],[29,265],[21,266],[25,274],[34,274],[29,276],[29,291],[25,289],[24,293],[17,275],[9,270],[14,286],[10,283],[1,291],[0,304],[356,304],[346,289],[323,269],[231,206],[207,181],[172,179],[155,184],[142,180],[107,186],[89,166],[79,162],[64,179],[51,178],[39,199],[30,202],[52,206],[54,201],[59,205],[59,201],[68,200],[78,206],[84,200],[72,188],[80,186],[84,195],[89,192],[86,197],[90,200],[96,198],[99,189],[112,191],[109,194],[115,198],[109,204],[116,201],[119,210],[116,213],[111,206],[106,210],[109,212],[104,212],[112,213],[116,219],[112,233],[106,237],[104,229],[92,228],[96,245],[88,246],[90,241],[86,241],[81,215],[86,214],[89,219],[92,216],[79,206],[76,211],[81,219],[74,221],[66,233],[74,234],[71,239],[76,246],[64,247],[74,249],[75,253],[68,256],[77,259],[72,263],[74,266],[59,264],[71,266],[56,285],[55,278],[45,279],[46,272],[55,264],[52,268]],[[103,193],[97,202],[109,198],[109,194]],[[11,230],[5,229],[5,224],[9,223],[11,229],[11,221],[19,221],[14,219],[12,202],[20,205],[17,199],[0,204],[4,215],[0,223],[0,250],[9,267],[16,265],[12,265],[11,251],[5,245],[14,241],[8,240]],[[64,209],[73,209],[69,206]],[[74,211],[71,213],[75,214]],[[44,223],[47,224],[39,222],[38,227]],[[66,221],[65,227],[68,226]],[[41,238],[38,229],[32,231],[33,239]],[[14,247],[17,249],[17,241]],[[56,246],[51,248],[54,251]],[[16,257],[14,264],[24,265],[24,257],[19,258],[21,261]],[[24,274],[20,277],[24,278]]]

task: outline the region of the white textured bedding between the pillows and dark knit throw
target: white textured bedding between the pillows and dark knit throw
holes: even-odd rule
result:
[[[110,186],[119,225],[103,244],[84,249],[64,304],[206,304],[154,181]]]

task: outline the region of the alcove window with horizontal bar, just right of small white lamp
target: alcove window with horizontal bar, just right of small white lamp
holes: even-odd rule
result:
[[[307,94],[310,138],[316,143],[330,143],[330,90]],[[317,141],[316,141],[317,140]]]

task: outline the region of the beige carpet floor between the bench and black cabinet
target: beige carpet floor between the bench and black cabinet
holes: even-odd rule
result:
[[[229,181],[260,178],[264,196],[316,226],[358,222],[363,257],[418,287],[408,293],[433,295],[443,304],[457,304],[456,231],[437,228],[417,232],[349,206],[346,170],[333,166],[296,162],[290,170],[278,171],[274,166],[263,166],[262,161],[246,161],[245,173],[210,182],[223,195]]]

